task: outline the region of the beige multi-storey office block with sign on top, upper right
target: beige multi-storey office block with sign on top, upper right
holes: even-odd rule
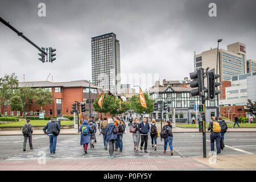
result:
[[[217,48],[201,52],[194,56],[194,70],[197,68],[215,69],[221,75],[221,81],[231,81],[232,76],[242,75],[256,69],[254,60],[246,60],[246,45],[240,42],[228,45],[228,50],[219,49],[217,68]]]

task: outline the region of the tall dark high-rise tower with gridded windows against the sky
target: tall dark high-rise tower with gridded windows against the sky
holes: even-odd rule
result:
[[[114,33],[92,38],[92,83],[114,95],[120,91],[120,44]]]

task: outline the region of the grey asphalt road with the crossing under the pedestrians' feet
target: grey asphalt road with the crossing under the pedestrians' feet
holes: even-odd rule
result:
[[[207,133],[207,155],[210,151],[209,133]],[[32,137],[33,150],[23,152],[23,136],[1,136],[0,137],[0,160],[26,160],[38,158],[38,152],[44,151],[48,159],[108,159],[109,154],[103,147],[102,135],[97,135],[95,148],[88,148],[88,155],[84,155],[80,146],[80,135],[59,135],[54,157],[49,154],[49,141],[46,135],[35,135]],[[225,148],[221,154],[256,154],[256,133],[227,133],[225,135]],[[114,152],[116,158],[170,158],[163,155],[163,141],[158,138],[158,150],[151,148],[151,138],[148,138],[148,153],[133,151],[133,139],[131,134],[123,135],[123,152]],[[172,158],[191,158],[203,156],[203,137],[201,133],[174,133],[174,156]],[[216,150],[216,148],[215,148]],[[170,148],[167,146],[167,154]]]

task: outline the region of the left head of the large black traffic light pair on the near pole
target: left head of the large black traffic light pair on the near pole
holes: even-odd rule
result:
[[[190,83],[191,88],[196,88],[191,90],[191,96],[203,96],[204,90],[204,69],[198,68],[196,72],[189,73],[190,78],[193,80]]]

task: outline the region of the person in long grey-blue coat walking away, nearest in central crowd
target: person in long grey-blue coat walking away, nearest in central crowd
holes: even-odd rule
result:
[[[114,127],[115,125],[114,125],[113,119],[109,118],[108,125],[106,126],[106,130],[105,130],[104,139],[109,144],[109,155],[111,159],[113,159],[113,154],[114,154],[114,143],[115,143],[115,140],[117,140],[117,134],[113,132]]]

